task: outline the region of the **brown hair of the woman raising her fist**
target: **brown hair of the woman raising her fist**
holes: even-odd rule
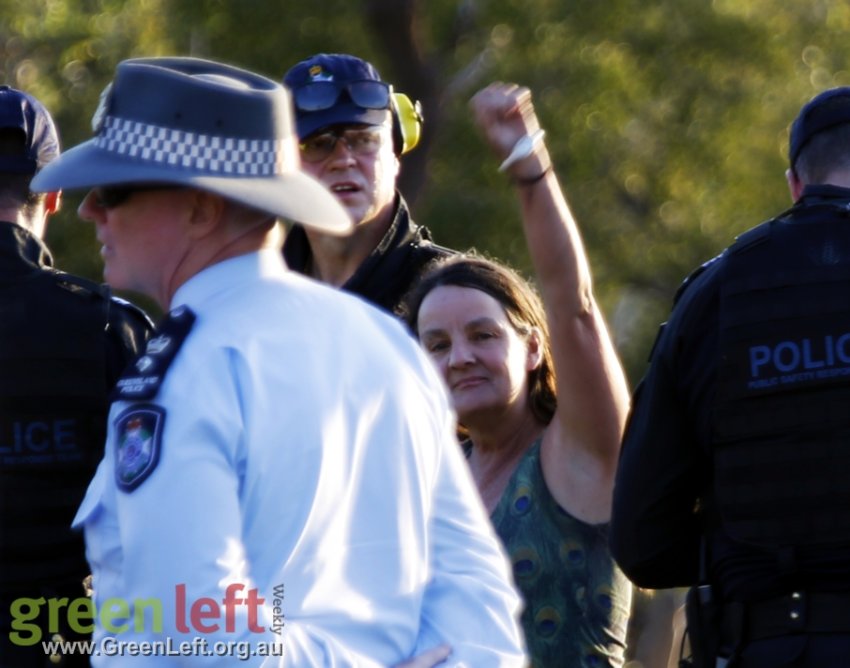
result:
[[[528,403],[534,416],[549,424],[555,414],[555,366],[549,343],[549,327],[543,302],[534,287],[511,267],[475,252],[451,255],[432,262],[407,294],[402,316],[419,336],[417,320],[425,297],[441,286],[481,290],[502,305],[514,330],[526,336],[533,327],[541,333],[543,357],[540,365],[528,373]]]

